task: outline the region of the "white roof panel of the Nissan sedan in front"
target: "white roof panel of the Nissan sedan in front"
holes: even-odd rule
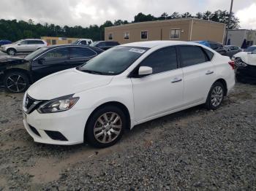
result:
[[[198,45],[198,43],[195,42],[185,42],[185,41],[147,41],[147,42],[132,42],[128,44],[122,44],[120,46],[125,47],[146,47],[146,48],[152,48],[152,47],[158,47],[162,45]]]

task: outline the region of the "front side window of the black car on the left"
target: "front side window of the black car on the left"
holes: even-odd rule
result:
[[[69,50],[67,47],[50,50],[41,56],[41,58],[45,58],[45,61],[66,60],[68,57]]]

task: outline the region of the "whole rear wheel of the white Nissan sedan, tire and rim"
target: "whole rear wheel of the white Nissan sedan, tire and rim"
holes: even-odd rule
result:
[[[225,87],[221,82],[214,82],[206,100],[207,109],[218,109],[221,106],[225,93]]]

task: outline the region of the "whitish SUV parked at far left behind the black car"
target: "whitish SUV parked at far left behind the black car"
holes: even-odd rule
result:
[[[42,39],[24,39],[12,44],[3,45],[0,47],[0,50],[7,52],[8,55],[15,55],[20,52],[34,52],[45,46],[47,46],[47,42]]]

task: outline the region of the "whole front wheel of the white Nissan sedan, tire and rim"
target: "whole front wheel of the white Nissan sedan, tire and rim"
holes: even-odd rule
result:
[[[104,106],[97,109],[89,118],[85,139],[93,147],[110,147],[121,139],[125,128],[127,128],[127,118],[124,112],[116,106]]]

